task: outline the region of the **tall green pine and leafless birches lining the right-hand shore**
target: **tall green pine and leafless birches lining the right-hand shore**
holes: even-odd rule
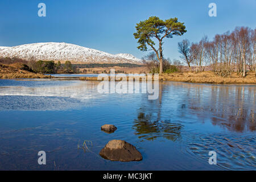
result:
[[[146,65],[151,72],[166,72],[164,69],[169,69],[169,66],[166,67],[168,61],[163,56],[163,40],[187,32],[184,23],[177,18],[162,20],[151,16],[137,23],[135,28],[133,35],[138,39],[137,48],[141,51],[154,51],[154,54],[144,57],[150,60]],[[245,77],[248,70],[255,71],[256,74],[255,34],[256,29],[237,27],[232,32],[215,35],[212,41],[207,36],[198,43],[190,43],[184,39],[178,43],[178,51],[189,69],[191,65],[196,66],[196,72],[204,71],[205,67],[210,66],[214,73],[223,77],[230,76],[232,72]]]

